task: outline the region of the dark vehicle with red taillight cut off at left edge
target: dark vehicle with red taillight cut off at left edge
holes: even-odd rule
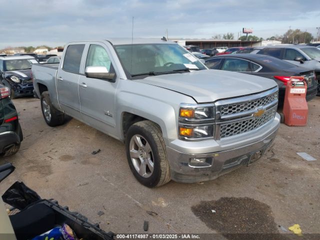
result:
[[[16,153],[23,139],[18,115],[9,95],[9,88],[0,84],[0,155],[2,156]]]

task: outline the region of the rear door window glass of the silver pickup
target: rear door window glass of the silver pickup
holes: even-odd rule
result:
[[[69,45],[66,48],[66,52],[63,60],[63,70],[74,73],[80,72],[80,62],[84,44]]]

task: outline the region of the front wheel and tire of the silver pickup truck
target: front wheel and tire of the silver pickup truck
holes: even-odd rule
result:
[[[158,187],[170,181],[170,167],[160,127],[143,120],[131,125],[125,137],[130,169],[147,187]]]

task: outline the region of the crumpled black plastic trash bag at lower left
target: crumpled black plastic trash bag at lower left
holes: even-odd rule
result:
[[[22,210],[27,205],[41,197],[32,189],[27,187],[22,181],[14,182],[2,195],[2,200],[9,205]]]

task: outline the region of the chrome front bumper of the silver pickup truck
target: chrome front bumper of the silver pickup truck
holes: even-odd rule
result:
[[[216,144],[216,141],[212,141],[214,143],[209,153],[196,153],[196,149],[194,148],[191,150],[192,153],[186,153],[166,146],[171,179],[177,182],[212,180],[242,165],[249,165],[260,158],[271,145],[279,125],[280,117],[276,113],[272,122],[261,129],[254,130],[255,132],[253,131],[252,135],[254,136],[249,137],[245,135],[242,140],[237,138],[237,141],[229,142],[228,144],[224,144],[224,146]],[[239,141],[242,145],[239,144]],[[199,147],[198,151],[202,150],[203,148]],[[212,158],[212,164],[205,167],[192,166],[189,163],[190,158]]]

